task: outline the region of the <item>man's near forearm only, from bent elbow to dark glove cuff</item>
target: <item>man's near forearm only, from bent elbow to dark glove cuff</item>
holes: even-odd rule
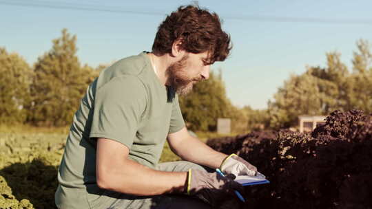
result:
[[[114,190],[129,195],[161,195],[183,192],[187,172],[165,172],[153,170],[130,159],[125,159],[122,166],[105,168],[107,170],[97,182],[101,188]]]

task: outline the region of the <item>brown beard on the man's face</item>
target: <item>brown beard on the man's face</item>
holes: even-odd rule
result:
[[[194,83],[201,80],[201,76],[196,76],[194,78],[187,76],[185,70],[187,58],[189,58],[189,56],[183,56],[180,61],[169,65],[166,71],[168,84],[175,89],[176,93],[179,95],[188,94],[192,91]]]

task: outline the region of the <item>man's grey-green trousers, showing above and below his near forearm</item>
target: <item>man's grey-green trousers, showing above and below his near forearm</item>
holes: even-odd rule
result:
[[[187,171],[190,168],[196,170],[206,170],[203,166],[192,162],[178,161],[165,162],[158,164],[157,170],[181,172]],[[100,208],[110,209],[183,209],[183,208],[211,208],[207,203],[188,195],[158,195],[149,197],[138,197],[125,195],[118,192],[109,194],[110,201],[105,203],[105,206]]]

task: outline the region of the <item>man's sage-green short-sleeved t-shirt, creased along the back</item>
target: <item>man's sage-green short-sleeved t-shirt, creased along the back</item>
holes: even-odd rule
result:
[[[156,168],[167,134],[184,126],[178,96],[158,80],[146,52],[104,69],[74,115],[59,167],[56,205],[99,208],[105,201],[105,190],[96,185],[97,137],[124,144],[129,159]]]

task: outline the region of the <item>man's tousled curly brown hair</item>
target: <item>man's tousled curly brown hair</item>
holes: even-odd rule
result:
[[[230,36],[221,28],[216,13],[198,6],[180,6],[161,25],[152,45],[157,56],[172,52],[174,41],[181,40],[181,48],[194,54],[209,52],[205,65],[225,61],[232,48]]]

